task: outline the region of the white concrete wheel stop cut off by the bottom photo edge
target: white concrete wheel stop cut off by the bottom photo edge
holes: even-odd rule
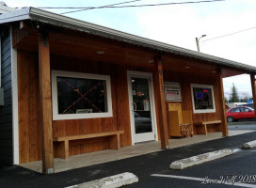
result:
[[[123,185],[132,184],[138,181],[136,175],[130,172],[124,172],[122,174],[106,177],[100,180],[91,180],[77,185],[72,185],[66,188],[117,188]]]

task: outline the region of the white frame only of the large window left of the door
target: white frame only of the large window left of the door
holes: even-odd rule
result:
[[[108,112],[101,113],[87,113],[87,114],[58,114],[58,103],[57,103],[57,86],[56,77],[71,77],[71,78],[84,78],[93,80],[104,80],[106,83],[106,101]],[[112,95],[111,95],[111,84],[110,75],[103,74],[91,74],[81,73],[74,71],[52,71],[52,100],[53,100],[53,120],[65,120],[65,119],[81,119],[81,118],[112,118]]]

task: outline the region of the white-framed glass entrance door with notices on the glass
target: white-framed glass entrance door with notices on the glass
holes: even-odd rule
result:
[[[128,91],[133,144],[157,140],[152,74],[128,71]]]

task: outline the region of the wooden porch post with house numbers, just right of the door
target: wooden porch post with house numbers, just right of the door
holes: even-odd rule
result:
[[[164,78],[163,78],[163,66],[161,61],[161,55],[155,60],[155,85],[156,97],[158,101],[158,118],[159,118],[159,128],[161,136],[161,148],[169,149],[168,146],[168,118],[166,109],[166,99],[165,99],[165,89],[164,89]]]

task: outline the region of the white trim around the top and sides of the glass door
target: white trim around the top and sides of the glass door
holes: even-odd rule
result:
[[[132,116],[133,112],[133,96],[132,93],[132,83],[130,82],[130,78],[132,76],[145,78],[150,78],[150,95],[152,98],[151,109],[152,109],[152,131],[155,134],[155,140],[158,141],[158,133],[157,133],[157,124],[156,124],[156,115],[155,115],[155,102],[154,102],[154,93],[153,93],[153,82],[152,82],[152,73],[151,72],[143,72],[143,71],[127,71],[127,82],[128,82],[128,98],[129,98],[129,114],[130,114],[130,122],[131,122],[131,137],[132,137],[132,145],[135,145],[135,119]]]

